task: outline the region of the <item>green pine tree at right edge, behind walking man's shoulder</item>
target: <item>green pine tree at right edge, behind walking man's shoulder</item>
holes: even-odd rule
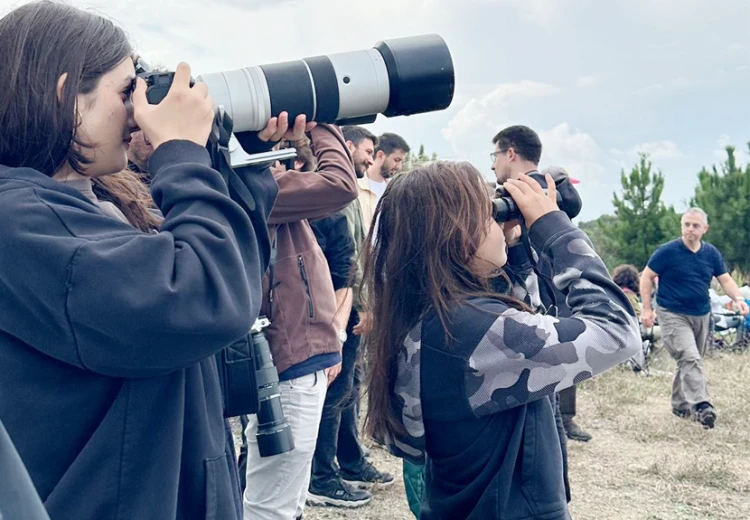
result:
[[[750,143],[748,143],[750,150]],[[708,214],[706,239],[719,248],[730,271],[750,273],[750,164],[737,165],[735,148],[726,147],[719,168],[703,168],[690,201]]]

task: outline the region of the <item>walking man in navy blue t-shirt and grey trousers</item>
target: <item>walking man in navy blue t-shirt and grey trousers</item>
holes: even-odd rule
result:
[[[654,324],[651,291],[658,276],[656,305],[664,346],[677,361],[672,384],[672,412],[678,417],[694,416],[704,428],[713,428],[716,412],[711,405],[702,361],[710,333],[708,289],[711,280],[716,277],[743,316],[747,316],[750,309],[727,273],[719,250],[703,241],[703,235],[708,231],[706,212],[690,208],[682,216],[681,227],[682,237],[659,247],[643,271],[641,322],[647,328]]]

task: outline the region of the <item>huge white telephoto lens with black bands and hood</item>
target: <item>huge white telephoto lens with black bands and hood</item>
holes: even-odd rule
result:
[[[257,131],[283,111],[290,121],[372,123],[443,110],[455,90],[453,60],[435,34],[379,42],[374,48],[203,74],[235,132]]]

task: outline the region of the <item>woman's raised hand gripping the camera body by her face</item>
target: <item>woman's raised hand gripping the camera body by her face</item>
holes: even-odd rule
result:
[[[146,99],[146,82],[138,78],[133,92],[135,122],[157,149],[167,141],[192,141],[206,146],[214,120],[214,102],[205,83],[190,87],[190,66],[180,63],[169,93],[158,105]]]

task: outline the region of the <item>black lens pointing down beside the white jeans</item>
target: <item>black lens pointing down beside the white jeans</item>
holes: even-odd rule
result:
[[[273,364],[266,335],[253,332],[255,381],[258,385],[258,451],[272,457],[294,449],[292,428],[284,416],[279,390],[279,374]]]

